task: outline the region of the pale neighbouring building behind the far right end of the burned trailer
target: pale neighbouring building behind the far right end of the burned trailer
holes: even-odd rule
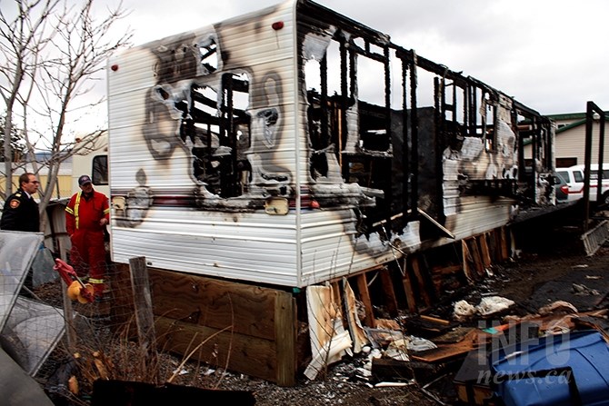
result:
[[[585,113],[553,114],[547,117],[556,124],[554,157],[557,168],[585,163]],[[598,163],[600,120],[594,119],[592,136],[592,162]],[[604,124],[604,162],[609,162],[609,124]],[[531,156],[531,145],[526,145],[525,156]]]

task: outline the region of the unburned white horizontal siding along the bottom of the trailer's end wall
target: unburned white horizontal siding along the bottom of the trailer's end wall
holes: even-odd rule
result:
[[[296,286],[295,216],[153,209],[141,226],[113,228],[113,260]],[[238,217],[243,221],[238,221]],[[182,219],[178,221],[178,219]]]

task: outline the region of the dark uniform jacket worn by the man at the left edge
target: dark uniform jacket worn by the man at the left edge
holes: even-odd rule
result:
[[[32,233],[40,231],[38,203],[33,197],[28,197],[21,188],[6,199],[0,229]]]

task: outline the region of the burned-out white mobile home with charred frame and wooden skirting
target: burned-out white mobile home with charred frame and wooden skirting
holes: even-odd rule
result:
[[[300,368],[308,287],[366,295],[554,204],[550,120],[310,1],[117,54],[108,80],[113,261],[145,257],[170,346],[229,323],[229,368],[271,381]]]

